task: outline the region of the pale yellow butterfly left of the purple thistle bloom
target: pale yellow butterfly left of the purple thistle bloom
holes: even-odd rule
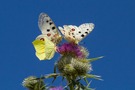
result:
[[[39,60],[50,60],[55,54],[55,44],[44,37],[44,41],[36,39],[33,42],[36,56]]]

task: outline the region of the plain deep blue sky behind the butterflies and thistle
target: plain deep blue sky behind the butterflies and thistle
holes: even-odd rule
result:
[[[0,89],[26,90],[24,78],[53,72],[58,54],[39,61],[32,41],[41,34],[38,15],[47,13],[57,26],[93,22],[95,29],[82,42],[93,62],[96,90],[135,89],[135,1],[134,0],[1,0],[0,1]],[[49,81],[46,81],[49,83]],[[61,82],[58,79],[56,82]]]

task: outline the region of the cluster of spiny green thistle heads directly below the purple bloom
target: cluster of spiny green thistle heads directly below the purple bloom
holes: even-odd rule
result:
[[[62,56],[57,62],[58,70],[64,75],[80,76],[92,70],[91,64],[86,59],[79,59],[70,55]]]

